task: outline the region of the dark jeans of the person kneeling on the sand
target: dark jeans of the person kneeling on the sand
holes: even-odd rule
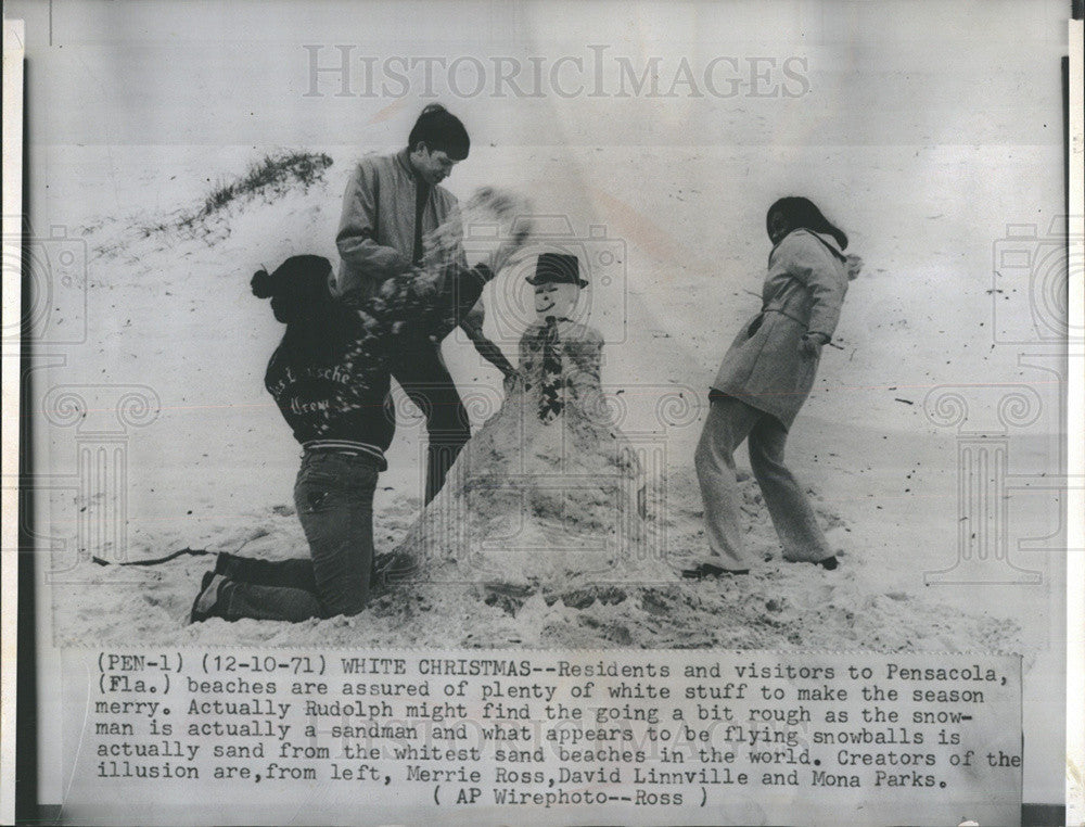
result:
[[[228,559],[227,582],[219,593],[224,616],[297,622],[365,609],[379,473],[370,457],[306,451],[294,485],[294,505],[310,558]]]

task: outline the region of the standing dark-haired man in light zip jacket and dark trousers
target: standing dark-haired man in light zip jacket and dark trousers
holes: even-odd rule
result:
[[[470,149],[471,140],[460,119],[433,103],[422,110],[405,149],[358,163],[343,196],[343,217],[335,236],[342,264],[333,294],[347,300],[352,294],[368,297],[386,279],[422,264],[423,237],[458,208],[456,196],[439,185]],[[465,265],[462,247],[454,255]],[[514,373],[500,349],[483,336],[481,316],[480,303],[460,327],[506,377]],[[471,437],[470,420],[441,355],[441,342],[421,330],[405,341],[393,360],[392,376],[425,416],[429,502]]]

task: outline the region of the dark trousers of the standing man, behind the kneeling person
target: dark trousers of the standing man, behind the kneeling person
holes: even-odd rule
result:
[[[425,501],[445,484],[448,469],[471,438],[471,421],[452,377],[441,356],[441,345],[421,340],[396,359],[392,376],[425,417],[430,442],[426,447]]]

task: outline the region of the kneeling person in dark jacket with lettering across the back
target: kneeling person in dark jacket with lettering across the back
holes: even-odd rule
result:
[[[303,621],[357,614],[373,576],[373,495],[395,432],[388,387],[401,338],[447,335],[493,278],[485,264],[412,269],[352,306],[329,291],[331,264],[289,258],[253,277],[286,331],[264,383],[302,444],[294,504],[309,558],[268,561],[220,554],[204,575],[191,622],[207,618]],[[410,320],[411,326],[406,323]]]

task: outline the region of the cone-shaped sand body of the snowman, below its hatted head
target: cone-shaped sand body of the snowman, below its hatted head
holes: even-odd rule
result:
[[[520,596],[674,580],[648,550],[641,462],[601,391],[602,348],[569,319],[527,329],[500,408],[399,547],[410,580]]]

